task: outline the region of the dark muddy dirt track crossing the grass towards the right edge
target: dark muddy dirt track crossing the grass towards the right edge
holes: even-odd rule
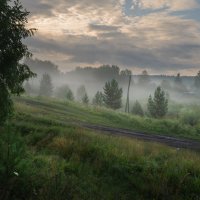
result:
[[[141,139],[145,141],[163,143],[168,146],[172,146],[176,148],[185,148],[185,149],[200,151],[200,142],[196,142],[195,140],[179,139],[175,137],[153,135],[153,134],[147,134],[147,133],[138,133],[131,130],[111,128],[111,127],[106,127],[106,126],[96,126],[96,125],[83,125],[83,126],[92,130],[105,132],[105,133],[109,133],[113,135],[128,136],[128,137],[133,137],[133,138],[137,138],[137,139]]]

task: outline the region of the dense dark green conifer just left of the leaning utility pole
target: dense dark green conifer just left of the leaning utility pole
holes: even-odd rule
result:
[[[118,82],[113,79],[106,82],[104,86],[103,101],[105,105],[112,109],[118,109],[122,106],[122,88],[119,88]]]

